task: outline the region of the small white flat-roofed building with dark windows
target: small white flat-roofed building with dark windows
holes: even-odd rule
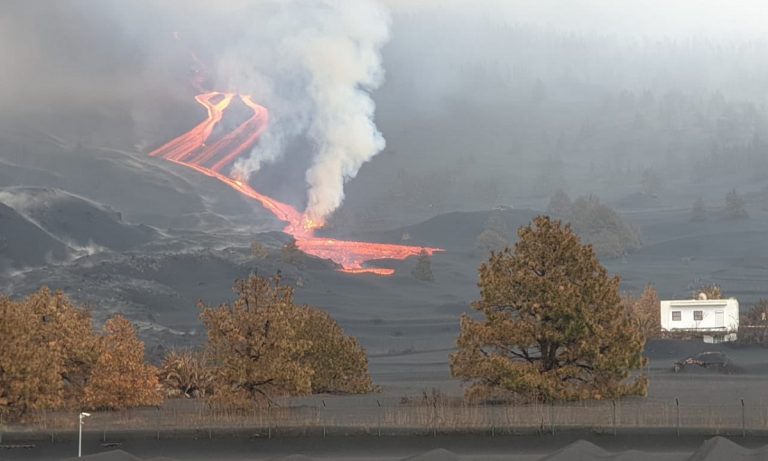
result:
[[[704,342],[735,341],[739,302],[730,299],[661,301],[661,330],[702,333]]]

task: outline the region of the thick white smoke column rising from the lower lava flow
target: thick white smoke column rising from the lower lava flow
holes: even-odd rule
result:
[[[385,146],[368,91],[383,81],[380,50],[389,39],[389,17],[373,2],[333,3],[338,23],[331,31],[344,33],[317,37],[302,49],[316,104],[309,134],[319,151],[306,174],[306,214],[314,221],[341,205],[344,184]]]

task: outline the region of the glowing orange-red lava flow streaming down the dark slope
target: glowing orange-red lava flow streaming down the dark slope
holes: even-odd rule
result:
[[[224,111],[235,98],[233,93],[213,91],[198,95],[195,100],[208,111],[206,119],[192,130],[152,151],[149,155],[162,157],[178,165],[192,168],[206,176],[216,178],[242,195],[259,201],[278,219],[286,222],[284,232],[296,239],[296,246],[301,251],[334,261],[342,267],[342,272],[392,275],[395,272],[393,269],[364,267],[364,264],[376,259],[403,260],[418,255],[422,250],[430,255],[442,251],[439,248],[317,237],[315,236],[315,229],[320,226],[294,207],[257,192],[246,181],[221,173],[223,168],[231,165],[240,155],[256,144],[269,122],[269,112],[266,108],[256,104],[248,95],[239,95],[239,97],[253,111],[253,115],[211,145],[207,145],[206,141],[211,137],[214,127],[221,121]]]

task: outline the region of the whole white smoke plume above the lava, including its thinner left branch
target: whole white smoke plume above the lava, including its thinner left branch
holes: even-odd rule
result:
[[[264,1],[254,8],[259,29],[221,61],[219,74],[269,107],[272,122],[234,174],[250,177],[280,158],[290,139],[308,137],[315,152],[306,214],[322,222],[341,205],[344,184],[385,146],[369,91],[383,82],[389,15],[369,0]]]

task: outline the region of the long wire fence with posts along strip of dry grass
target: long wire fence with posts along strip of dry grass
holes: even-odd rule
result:
[[[195,431],[212,437],[216,431],[247,430],[251,436],[280,434],[363,433],[445,434],[483,432],[504,435],[567,429],[592,429],[610,433],[626,429],[746,435],[768,430],[768,405],[685,404],[674,401],[623,400],[533,405],[469,405],[464,403],[406,403],[382,405],[377,400],[360,404],[331,400],[326,405],[269,406],[250,410],[217,409],[202,401],[168,401],[159,408],[121,412],[92,412],[84,431],[110,433],[144,431],[170,435]],[[72,433],[77,430],[76,412],[39,412],[19,425],[5,425],[13,433]],[[0,424],[0,428],[3,425]]]

